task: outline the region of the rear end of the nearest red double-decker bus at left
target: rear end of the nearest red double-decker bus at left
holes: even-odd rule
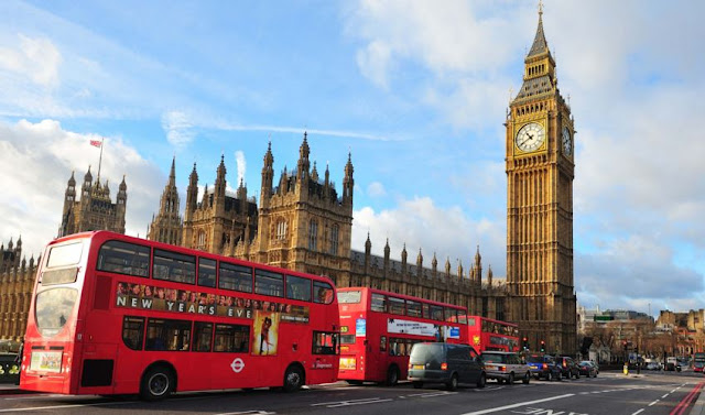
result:
[[[26,391],[76,393],[80,359],[80,310],[90,234],[46,247],[37,270],[24,335],[20,374]],[[107,370],[108,368],[96,368]],[[110,368],[111,370],[111,368]]]

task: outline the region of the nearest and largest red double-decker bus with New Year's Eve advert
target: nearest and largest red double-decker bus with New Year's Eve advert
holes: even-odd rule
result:
[[[333,382],[329,279],[97,231],[51,242],[21,389],[132,394]]]

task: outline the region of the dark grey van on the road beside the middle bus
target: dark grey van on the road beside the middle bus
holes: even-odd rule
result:
[[[424,383],[443,383],[448,390],[458,383],[485,387],[485,363],[473,347],[443,342],[415,343],[409,356],[409,380],[419,389]]]

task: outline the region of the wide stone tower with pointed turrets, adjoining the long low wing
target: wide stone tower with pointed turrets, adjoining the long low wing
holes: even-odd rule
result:
[[[336,286],[350,279],[352,232],[352,162],[348,154],[338,197],[326,166],[323,178],[308,160],[307,134],[299,150],[296,170],[284,168],[274,186],[271,143],[264,154],[258,238],[237,256],[311,274],[325,274]]]

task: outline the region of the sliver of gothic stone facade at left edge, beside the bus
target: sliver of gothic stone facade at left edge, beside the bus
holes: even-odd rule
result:
[[[0,247],[0,340],[19,341],[26,327],[36,265],[34,256],[29,262],[21,258],[22,238]]]

